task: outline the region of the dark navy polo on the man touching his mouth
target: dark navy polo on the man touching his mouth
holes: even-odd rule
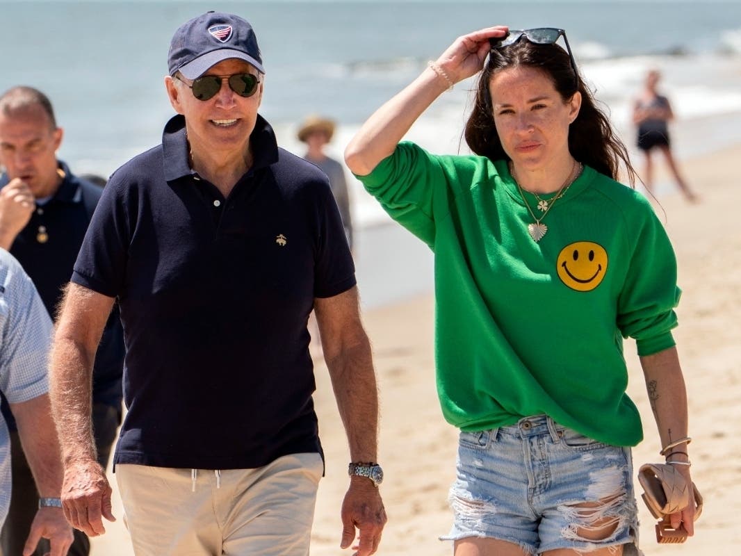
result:
[[[20,231],[10,253],[31,277],[50,316],[56,314],[62,288],[72,275],[72,268],[82,245],[87,225],[93,216],[102,188],[75,176],[64,162],[59,162],[64,179],[56,193],[43,205],[37,205],[28,224]],[[8,183],[0,176],[0,188]],[[96,354],[93,370],[93,400],[121,407],[121,374],[124,342],[118,311],[114,308],[107,322]],[[13,427],[13,418],[3,406]]]

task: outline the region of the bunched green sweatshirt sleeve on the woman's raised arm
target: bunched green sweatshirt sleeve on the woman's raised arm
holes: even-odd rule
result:
[[[391,218],[434,248],[435,220],[448,214],[448,179],[436,156],[402,142],[368,176],[356,177]]]

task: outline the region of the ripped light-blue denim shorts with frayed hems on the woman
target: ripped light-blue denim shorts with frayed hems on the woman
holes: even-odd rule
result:
[[[528,554],[623,547],[638,556],[631,449],[582,436],[550,417],[525,417],[491,431],[461,432],[449,502],[453,529],[442,540],[494,538]],[[591,503],[590,508],[578,508]],[[615,527],[602,540],[579,536],[596,520]]]

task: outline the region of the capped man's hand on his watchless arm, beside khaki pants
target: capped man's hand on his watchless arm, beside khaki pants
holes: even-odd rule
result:
[[[103,517],[116,521],[110,502],[112,489],[104,469],[95,460],[76,461],[64,469],[62,507],[75,529],[88,537],[103,535]]]

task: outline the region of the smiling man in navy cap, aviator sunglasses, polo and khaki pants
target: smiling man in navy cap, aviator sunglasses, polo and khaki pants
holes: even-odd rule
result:
[[[250,24],[205,13],[173,36],[162,145],[113,173],[75,264],[52,354],[62,503],[113,519],[90,440],[90,361],[114,299],[127,415],[114,465],[137,555],[308,554],[323,472],[308,317],[348,434],[341,546],[376,552],[378,401],[353,261],[327,176],[259,116]]]

